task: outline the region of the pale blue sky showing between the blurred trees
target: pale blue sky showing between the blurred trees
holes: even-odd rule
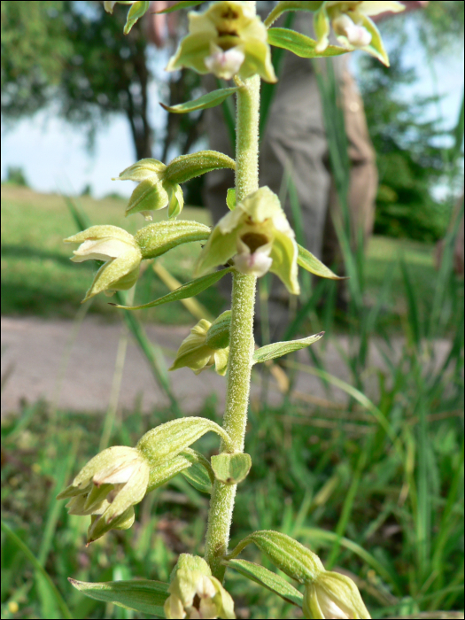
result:
[[[463,54],[458,50],[452,58],[439,58],[435,62],[438,81],[426,63],[422,47],[412,37],[406,49],[407,58],[418,61],[420,80],[404,94],[412,97],[432,95],[439,90],[444,95],[442,115],[447,128],[452,128],[458,118],[463,94]],[[151,69],[158,77],[167,53],[151,54]],[[356,63],[356,58],[353,60]],[[159,94],[155,84],[150,89],[150,119],[154,127],[162,128],[165,112],[159,107]],[[437,109],[431,109],[431,116]],[[4,179],[10,166],[21,167],[27,181],[35,190],[43,192],[80,193],[90,185],[92,194],[100,198],[117,191],[129,196],[132,183],[112,181],[121,170],[135,161],[128,121],[124,116],[113,116],[106,126],[97,132],[95,149],[86,149],[87,137],[79,128],[58,119],[53,112],[40,112],[32,119],[21,120],[13,128],[2,123],[2,164]]]

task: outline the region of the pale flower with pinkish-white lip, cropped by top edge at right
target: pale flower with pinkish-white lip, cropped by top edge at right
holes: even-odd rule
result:
[[[314,31],[318,38],[315,50],[321,53],[328,47],[330,21],[339,43],[349,50],[368,51],[389,66],[381,35],[370,16],[404,9],[400,2],[323,2],[314,14]]]

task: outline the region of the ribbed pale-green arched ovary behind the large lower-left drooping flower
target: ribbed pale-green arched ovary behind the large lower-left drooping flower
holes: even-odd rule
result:
[[[152,468],[163,461],[174,459],[209,431],[219,435],[227,449],[231,450],[231,439],[226,430],[221,429],[216,422],[200,417],[185,417],[160,424],[146,432],[137,442],[136,448],[143,453]]]

